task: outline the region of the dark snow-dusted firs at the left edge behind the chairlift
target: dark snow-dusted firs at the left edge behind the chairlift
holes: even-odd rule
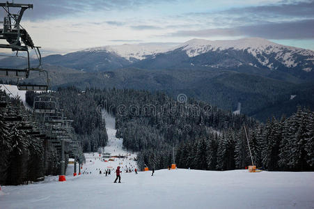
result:
[[[37,131],[40,121],[19,98],[0,91],[0,185],[19,185],[57,175],[60,153]]]

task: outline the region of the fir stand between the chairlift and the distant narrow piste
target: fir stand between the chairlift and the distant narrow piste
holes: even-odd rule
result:
[[[108,137],[105,122],[97,111],[93,94],[75,87],[58,88],[58,91],[50,94],[58,98],[64,116],[73,120],[72,126],[84,152],[97,152],[99,147],[106,146]],[[31,107],[36,95],[40,93],[26,93],[26,102]]]

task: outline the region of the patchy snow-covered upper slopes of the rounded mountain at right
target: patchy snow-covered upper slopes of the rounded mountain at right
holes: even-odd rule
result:
[[[177,48],[182,48],[189,57],[195,57],[207,52],[217,52],[226,49],[246,50],[263,66],[276,69],[276,62],[287,68],[301,66],[306,72],[313,70],[314,52],[308,49],[288,47],[263,38],[242,38],[239,40],[189,40]],[[251,63],[253,65],[253,63]]]

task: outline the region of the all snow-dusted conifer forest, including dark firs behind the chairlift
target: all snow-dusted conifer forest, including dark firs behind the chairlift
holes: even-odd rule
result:
[[[253,160],[268,171],[314,171],[314,113],[308,109],[299,107],[289,118],[269,118],[262,124],[205,102],[174,100],[160,92],[67,87],[50,94],[73,119],[84,152],[106,146],[102,112],[115,116],[117,137],[123,138],[125,149],[139,153],[140,169],[167,168],[174,150],[178,168],[226,171],[244,169]],[[0,111],[0,183],[18,185],[57,175],[60,153],[27,127],[29,123],[39,127],[39,119],[18,99],[1,95],[7,105]],[[26,93],[30,106],[36,95]]]

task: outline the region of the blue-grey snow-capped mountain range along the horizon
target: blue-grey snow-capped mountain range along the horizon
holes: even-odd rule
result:
[[[314,51],[262,38],[192,39],[178,44],[143,43],[84,49],[46,56],[44,63],[86,72],[118,68],[236,70],[289,82],[314,80]]]

